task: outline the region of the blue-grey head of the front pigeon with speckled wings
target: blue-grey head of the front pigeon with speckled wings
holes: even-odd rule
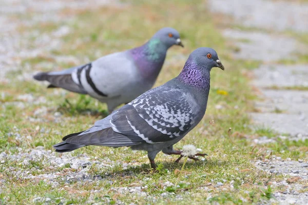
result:
[[[224,70],[224,66],[222,65],[214,49],[206,47],[198,48],[195,51],[192,51],[189,58],[191,58],[191,60],[202,69],[210,71],[212,68],[218,67],[221,70]]]

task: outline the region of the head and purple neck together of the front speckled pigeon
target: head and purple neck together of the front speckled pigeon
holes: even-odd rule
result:
[[[224,70],[216,51],[211,48],[198,48],[189,55],[178,78],[186,85],[205,89],[208,92],[209,72],[213,67]]]

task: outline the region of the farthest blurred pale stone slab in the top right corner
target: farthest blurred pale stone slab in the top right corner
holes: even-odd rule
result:
[[[308,4],[297,1],[268,0],[210,0],[214,12],[225,13],[246,27],[274,31],[308,31]]]

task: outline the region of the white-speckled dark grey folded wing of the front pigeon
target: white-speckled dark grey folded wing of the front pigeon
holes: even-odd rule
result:
[[[132,141],[149,144],[183,136],[195,119],[187,94],[180,89],[159,87],[122,107],[110,119],[112,130]]]

